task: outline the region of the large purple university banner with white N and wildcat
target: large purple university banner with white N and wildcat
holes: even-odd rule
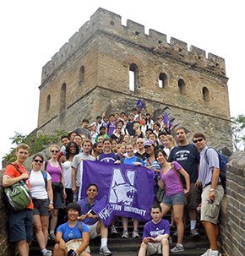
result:
[[[150,221],[150,205],[154,202],[155,170],[97,161],[84,161],[83,167],[82,199],[87,196],[87,186],[94,183],[99,188],[96,199],[106,196],[114,215]]]

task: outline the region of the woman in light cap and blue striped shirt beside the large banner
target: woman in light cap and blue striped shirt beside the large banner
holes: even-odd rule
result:
[[[146,139],[144,141],[144,150],[149,155],[146,160],[144,160],[144,166],[146,168],[151,168],[155,170],[155,180],[154,180],[154,198],[156,196],[156,193],[158,191],[158,188],[162,187],[162,183],[160,182],[160,171],[161,171],[161,165],[158,161],[155,160],[155,143],[151,139]],[[157,182],[156,182],[157,181]],[[155,203],[157,203],[156,199]]]

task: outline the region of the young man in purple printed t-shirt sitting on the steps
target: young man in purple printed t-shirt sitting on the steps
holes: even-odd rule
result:
[[[170,236],[169,222],[161,218],[161,206],[152,204],[150,207],[151,221],[144,225],[143,242],[139,248],[138,256],[152,254],[161,254],[162,256],[169,255]]]

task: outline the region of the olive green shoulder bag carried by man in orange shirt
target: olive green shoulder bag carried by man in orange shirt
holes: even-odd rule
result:
[[[14,166],[17,171],[22,174],[22,172],[19,170],[19,166],[14,164],[10,165]],[[27,187],[25,182],[16,182],[12,186],[4,188],[9,210],[17,212],[19,210],[24,210],[27,206],[29,206],[30,194],[24,187]]]

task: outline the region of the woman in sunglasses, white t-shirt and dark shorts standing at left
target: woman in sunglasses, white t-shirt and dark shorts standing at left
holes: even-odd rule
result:
[[[52,178],[46,171],[41,171],[43,156],[35,154],[30,171],[30,193],[34,204],[33,224],[35,237],[41,248],[42,256],[52,255],[46,249],[50,211],[53,209]]]

